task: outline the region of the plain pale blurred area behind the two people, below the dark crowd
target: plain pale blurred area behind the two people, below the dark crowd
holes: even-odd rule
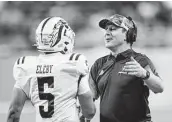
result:
[[[160,76],[164,80],[165,91],[162,94],[151,93],[149,101],[154,122],[172,122],[172,49],[136,49],[145,53],[156,66]],[[93,62],[107,54],[109,51],[105,48],[94,48],[86,50],[77,50],[84,54],[91,66]],[[15,60],[23,55],[36,55],[33,52],[18,52],[10,57],[0,57],[0,122],[6,121],[9,101],[11,98],[14,80],[12,77],[12,68]],[[99,101],[96,102],[97,113],[92,122],[99,122]],[[29,102],[26,103],[21,115],[21,122],[35,122],[35,111]]]

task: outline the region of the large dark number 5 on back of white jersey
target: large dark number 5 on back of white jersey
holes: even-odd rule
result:
[[[54,88],[54,77],[38,77],[37,81],[40,100],[48,101],[48,111],[44,110],[44,106],[39,106],[40,115],[42,118],[51,118],[54,114],[54,95],[44,93],[44,84],[47,83],[49,88]]]

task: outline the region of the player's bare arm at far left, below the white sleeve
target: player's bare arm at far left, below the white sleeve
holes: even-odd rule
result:
[[[7,122],[19,122],[26,100],[27,97],[23,90],[14,87],[12,101],[8,110]]]

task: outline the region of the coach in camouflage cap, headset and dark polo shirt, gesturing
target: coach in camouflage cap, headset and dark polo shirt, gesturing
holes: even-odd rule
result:
[[[152,122],[149,90],[163,92],[163,81],[151,60],[132,49],[137,27],[131,17],[115,14],[99,22],[111,53],[95,61],[89,84],[100,96],[100,122]]]

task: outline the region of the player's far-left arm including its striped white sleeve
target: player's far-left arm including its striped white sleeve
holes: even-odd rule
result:
[[[26,71],[24,70],[25,57],[19,58],[13,67],[13,77],[16,81],[11,104],[8,110],[7,122],[19,122],[21,111],[29,94],[29,83],[25,78]]]

